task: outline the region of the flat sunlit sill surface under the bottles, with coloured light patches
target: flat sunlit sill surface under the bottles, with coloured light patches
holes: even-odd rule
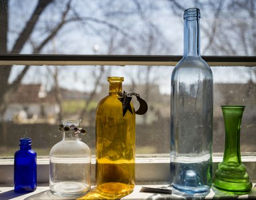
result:
[[[146,184],[146,185],[145,185]],[[186,194],[186,193],[180,193],[178,191],[173,191],[173,194],[153,194],[153,193],[141,193],[141,187],[164,187],[168,186],[168,184],[163,183],[145,183],[141,185],[136,185],[135,189],[131,194],[128,194],[126,196],[121,195],[110,195],[110,194],[104,194],[100,193],[98,190],[96,190],[95,187],[92,188],[92,190],[84,195],[83,197],[77,198],[77,199],[236,199],[239,197],[239,199],[256,199],[256,186],[255,183],[253,184],[253,190],[249,194],[245,195],[235,195],[231,193],[227,193],[225,191],[219,191],[216,190],[214,187],[210,190],[210,193],[208,194]],[[19,199],[25,199],[25,200],[34,200],[34,199],[44,199],[44,200],[52,200],[52,199],[70,199],[70,198],[58,198],[50,193],[48,186],[39,186],[37,187],[37,190],[32,193],[14,193],[13,187],[5,187],[0,186],[0,199],[8,199],[8,200],[19,200]]]

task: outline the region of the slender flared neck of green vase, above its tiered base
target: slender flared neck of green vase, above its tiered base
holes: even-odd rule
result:
[[[225,122],[224,163],[241,164],[240,129],[245,107],[222,107]]]

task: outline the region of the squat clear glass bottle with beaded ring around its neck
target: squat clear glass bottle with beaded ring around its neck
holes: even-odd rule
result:
[[[62,121],[63,139],[50,150],[50,191],[75,197],[90,190],[89,147],[79,140],[80,121]]]

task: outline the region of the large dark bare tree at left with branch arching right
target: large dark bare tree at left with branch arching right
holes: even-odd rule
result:
[[[72,22],[78,22],[81,25],[88,25],[90,22],[90,26],[93,27],[93,30],[97,31],[96,26],[92,26],[92,23],[94,25],[100,24],[106,27],[109,27],[109,29],[116,30],[120,34],[124,35],[127,38],[132,38],[131,35],[129,35],[127,32],[125,32],[122,28],[119,26],[108,22],[104,19],[99,19],[94,16],[81,16],[80,13],[76,11],[74,7],[72,7],[72,0],[65,1],[65,9],[63,9],[62,13],[60,13],[60,21],[57,23],[52,23],[50,26],[45,26],[42,32],[44,33],[44,39],[41,41],[34,41],[32,34],[34,33],[34,29],[38,23],[40,23],[41,16],[44,15],[46,8],[49,5],[53,5],[57,1],[53,0],[39,0],[36,8],[34,9],[33,13],[31,14],[31,17],[26,22],[25,27],[23,27],[21,33],[19,33],[17,40],[14,42],[13,47],[11,50],[7,49],[7,35],[8,35],[8,23],[9,23],[9,1],[3,0],[0,3],[0,23],[1,23],[1,33],[0,33],[0,53],[2,54],[18,54],[21,53],[23,47],[27,45],[29,42],[31,46],[33,47],[32,54],[38,54],[40,53],[46,45],[54,38],[58,33],[60,33],[61,29],[67,25],[68,23]],[[60,2],[61,3],[61,2]],[[70,14],[72,13],[72,14]],[[8,79],[10,77],[11,69],[13,66],[3,66],[0,71],[0,77],[2,82],[2,87],[0,87],[0,113],[1,118],[3,118],[3,115],[5,114],[9,95],[14,93],[17,89],[19,84],[21,83],[23,77],[29,71],[30,66],[25,66],[21,73],[18,74],[18,76],[14,79],[12,83],[8,82]],[[56,88],[56,87],[55,87]]]

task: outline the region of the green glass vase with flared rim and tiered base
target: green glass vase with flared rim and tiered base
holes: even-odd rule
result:
[[[250,191],[252,183],[241,161],[240,129],[245,106],[221,106],[225,122],[225,151],[223,161],[215,172],[215,187],[234,191]]]

